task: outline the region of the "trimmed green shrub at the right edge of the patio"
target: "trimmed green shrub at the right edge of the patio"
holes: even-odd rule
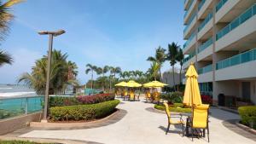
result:
[[[256,106],[245,106],[238,108],[241,124],[256,129]]]

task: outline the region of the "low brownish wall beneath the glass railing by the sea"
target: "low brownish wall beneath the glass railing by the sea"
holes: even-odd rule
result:
[[[26,127],[30,122],[38,122],[42,112],[31,113],[15,118],[0,120],[0,135]]]

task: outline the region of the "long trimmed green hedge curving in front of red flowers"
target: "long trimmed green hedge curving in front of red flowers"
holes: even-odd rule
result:
[[[91,105],[77,105],[49,108],[52,121],[80,121],[104,118],[115,111],[119,100],[106,101]]]

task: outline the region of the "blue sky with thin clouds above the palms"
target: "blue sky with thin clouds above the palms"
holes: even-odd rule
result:
[[[0,67],[0,84],[16,84],[46,55],[48,37],[37,33],[42,30],[66,31],[55,37],[53,48],[77,63],[81,84],[90,78],[84,72],[88,63],[146,72],[146,59],[157,47],[183,45],[181,0],[26,0],[11,13],[15,19],[0,49],[15,62]],[[162,72],[170,68],[166,62]]]

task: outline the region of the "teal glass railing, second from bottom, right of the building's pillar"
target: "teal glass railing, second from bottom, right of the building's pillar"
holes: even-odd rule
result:
[[[225,26],[222,30],[220,30],[216,34],[216,40],[220,39],[221,37],[224,37],[224,35],[234,30],[237,26],[240,26],[242,23],[244,23],[246,20],[253,17],[253,15],[255,14],[256,14],[256,3],[253,4],[251,8],[247,9],[243,14],[241,14],[235,20],[232,20],[228,26]]]

